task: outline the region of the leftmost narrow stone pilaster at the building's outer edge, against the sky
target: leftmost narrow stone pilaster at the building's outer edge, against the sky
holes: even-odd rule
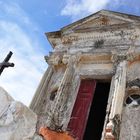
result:
[[[46,72],[44,73],[42,80],[35,92],[32,102],[30,104],[30,108],[35,113],[40,112],[40,109],[42,107],[43,98],[46,94],[46,89],[48,87],[47,85],[49,83],[49,80],[50,80],[52,74],[53,74],[53,68],[51,66],[49,66],[48,69],[46,70]]]

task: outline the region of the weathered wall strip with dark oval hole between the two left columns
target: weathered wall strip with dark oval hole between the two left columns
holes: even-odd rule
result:
[[[60,86],[63,74],[65,72],[65,67],[60,67],[58,69],[53,68],[53,74],[49,83],[47,83],[46,90],[44,91],[44,97],[42,98],[42,107],[38,110],[38,126],[47,126],[49,122],[49,117],[52,114],[52,110],[55,104],[55,98],[57,96],[57,90]]]

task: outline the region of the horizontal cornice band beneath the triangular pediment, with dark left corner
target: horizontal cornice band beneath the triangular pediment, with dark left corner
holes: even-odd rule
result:
[[[89,30],[89,31],[87,31]],[[85,33],[86,32],[86,33]],[[103,29],[99,27],[98,29],[92,28],[83,29],[83,31],[73,31],[67,35],[62,35],[61,31],[46,33],[49,42],[55,48],[56,46],[71,45],[74,42],[83,42],[83,41],[97,41],[97,40],[125,40],[130,42],[131,38],[134,36],[140,37],[140,31],[137,26],[130,26],[130,24],[122,25],[112,25],[106,26]],[[117,41],[116,41],[117,42]]]

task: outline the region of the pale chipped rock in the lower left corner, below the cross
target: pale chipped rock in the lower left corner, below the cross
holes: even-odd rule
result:
[[[0,139],[31,140],[36,131],[37,116],[0,88]]]

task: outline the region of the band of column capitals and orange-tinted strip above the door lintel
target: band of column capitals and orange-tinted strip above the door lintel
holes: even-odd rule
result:
[[[109,52],[78,52],[70,54],[68,52],[53,52],[45,57],[47,63],[51,66],[66,66],[70,59],[73,59],[77,64],[109,64],[114,65],[114,70],[119,62],[126,60],[132,63],[140,58],[140,52],[135,52],[135,47],[130,47],[127,50],[114,50]]]

